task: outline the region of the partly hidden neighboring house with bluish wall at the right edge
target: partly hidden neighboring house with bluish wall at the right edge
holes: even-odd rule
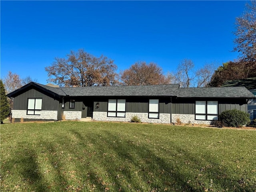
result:
[[[244,86],[252,92],[252,94],[256,95],[256,77],[226,81],[221,87],[238,86]],[[248,113],[250,114],[250,119],[256,119],[256,98],[248,101]]]

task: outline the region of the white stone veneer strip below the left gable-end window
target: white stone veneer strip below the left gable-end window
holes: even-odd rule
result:
[[[27,115],[26,110],[12,110],[12,118],[23,119],[58,119],[58,111],[40,111],[41,115]]]

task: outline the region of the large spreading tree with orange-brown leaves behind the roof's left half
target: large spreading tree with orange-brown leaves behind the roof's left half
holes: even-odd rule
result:
[[[66,58],[55,58],[51,66],[45,67],[48,81],[61,87],[114,85],[116,69],[112,59],[103,55],[95,57],[83,49],[71,51]]]

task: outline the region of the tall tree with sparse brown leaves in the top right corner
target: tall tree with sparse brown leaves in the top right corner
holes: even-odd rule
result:
[[[236,44],[234,51],[241,53],[240,59],[256,61],[256,1],[246,4],[246,11],[236,18]]]

